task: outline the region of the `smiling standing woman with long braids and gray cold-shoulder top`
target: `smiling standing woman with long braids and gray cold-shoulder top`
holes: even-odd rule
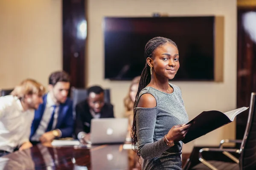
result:
[[[134,103],[131,130],[143,170],[182,170],[182,142],[190,125],[180,88],[170,84],[177,73],[179,52],[175,42],[155,37],[145,46],[146,65]]]

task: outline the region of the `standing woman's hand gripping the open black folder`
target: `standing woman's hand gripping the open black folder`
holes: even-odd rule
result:
[[[170,142],[179,142],[185,138],[186,133],[188,132],[190,126],[191,124],[175,125],[169,130],[169,132],[166,135],[166,138]]]

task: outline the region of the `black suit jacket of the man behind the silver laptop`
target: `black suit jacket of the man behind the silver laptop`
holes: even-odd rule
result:
[[[100,118],[113,118],[113,105],[105,103],[102,108]],[[90,122],[93,116],[90,113],[90,108],[87,100],[84,100],[76,105],[76,124],[75,133],[76,137],[79,132],[90,133]]]

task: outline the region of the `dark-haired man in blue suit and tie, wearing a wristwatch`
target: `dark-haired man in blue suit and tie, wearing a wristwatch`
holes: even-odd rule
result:
[[[56,71],[49,77],[49,92],[35,111],[31,126],[30,141],[50,142],[55,138],[72,137],[73,102],[67,97],[70,78],[64,71]]]

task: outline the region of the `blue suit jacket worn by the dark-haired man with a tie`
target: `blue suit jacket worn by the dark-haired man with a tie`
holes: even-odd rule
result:
[[[47,103],[47,95],[43,96],[43,100],[44,102],[39,105],[38,110],[35,110],[35,118],[31,125],[30,139],[35,134],[35,131],[37,130],[43,117],[44,109]],[[61,138],[65,138],[72,137],[73,127],[73,102],[67,98],[66,102],[60,104],[59,106],[58,120],[55,128],[61,130]]]

